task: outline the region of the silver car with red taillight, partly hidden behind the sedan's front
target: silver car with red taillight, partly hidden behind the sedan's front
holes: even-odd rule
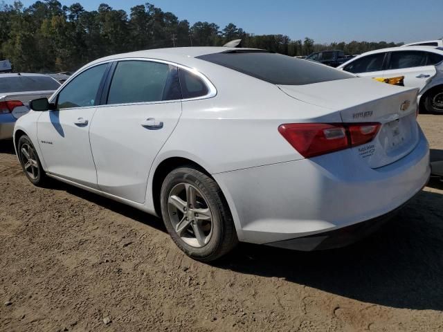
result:
[[[48,75],[0,74],[0,140],[12,138],[15,121],[28,113],[30,100],[49,98],[59,86]]]

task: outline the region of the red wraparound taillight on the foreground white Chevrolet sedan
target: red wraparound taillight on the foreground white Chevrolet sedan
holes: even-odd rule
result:
[[[305,158],[329,154],[370,142],[381,124],[366,123],[289,123],[278,131]]]

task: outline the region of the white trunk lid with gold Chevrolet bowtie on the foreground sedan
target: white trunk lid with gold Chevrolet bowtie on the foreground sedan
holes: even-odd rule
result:
[[[419,141],[418,89],[368,78],[279,87],[292,98],[340,111],[344,123],[381,123],[374,140],[352,148],[372,168],[394,163],[412,151]]]

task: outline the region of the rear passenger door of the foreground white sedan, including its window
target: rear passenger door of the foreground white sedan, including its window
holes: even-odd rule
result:
[[[152,162],[181,116],[178,69],[131,59],[111,71],[90,129],[98,187],[144,203]]]

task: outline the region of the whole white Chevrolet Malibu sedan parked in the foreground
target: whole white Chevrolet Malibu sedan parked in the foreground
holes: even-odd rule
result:
[[[98,59],[15,126],[48,177],[161,216],[210,261],[238,241],[314,250],[371,232],[426,184],[417,89],[248,48]]]

